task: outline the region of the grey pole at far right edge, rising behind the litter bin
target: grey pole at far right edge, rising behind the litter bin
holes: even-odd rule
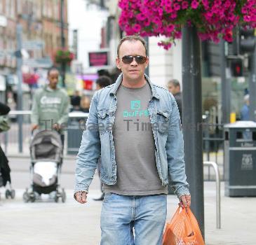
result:
[[[256,40],[256,38],[255,38]],[[255,121],[256,116],[256,47],[250,57],[250,80],[249,80],[249,94],[250,94],[250,120]]]

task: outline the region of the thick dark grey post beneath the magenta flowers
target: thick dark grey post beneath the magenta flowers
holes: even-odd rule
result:
[[[191,210],[204,237],[201,43],[195,27],[182,30],[182,128]]]

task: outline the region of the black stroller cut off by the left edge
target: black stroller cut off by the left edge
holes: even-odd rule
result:
[[[4,154],[0,146],[0,187],[6,187],[6,199],[11,197],[14,199],[15,197],[15,190],[11,188],[11,176],[10,176],[11,169],[8,165],[8,159]]]

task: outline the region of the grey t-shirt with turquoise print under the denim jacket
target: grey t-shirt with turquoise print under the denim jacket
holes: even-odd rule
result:
[[[117,108],[113,127],[117,182],[104,185],[105,193],[154,195],[168,193],[156,169],[154,136],[149,112],[151,88],[121,85],[116,93]]]

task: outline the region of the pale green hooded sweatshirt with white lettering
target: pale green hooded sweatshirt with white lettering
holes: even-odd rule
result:
[[[42,130],[52,130],[55,123],[67,127],[68,118],[69,96],[65,90],[59,87],[52,90],[48,85],[36,90],[32,105],[32,124],[39,125]]]

